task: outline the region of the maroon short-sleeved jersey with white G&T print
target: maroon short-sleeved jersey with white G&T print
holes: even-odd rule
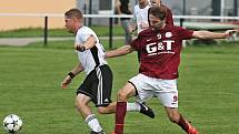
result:
[[[140,53],[139,72],[151,78],[177,79],[182,40],[191,39],[193,31],[167,25],[160,31],[147,29],[131,43]]]

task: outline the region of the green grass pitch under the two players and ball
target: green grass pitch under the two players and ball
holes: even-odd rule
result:
[[[0,48],[0,120],[11,113],[22,117],[23,128],[19,134],[89,133],[73,106],[76,89],[84,74],[76,78],[69,89],[60,89],[62,79],[78,61],[71,44],[67,44],[71,41],[64,43],[66,48],[57,47],[59,42],[48,48]],[[183,50],[178,80],[179,111],[201,134],[239,133],[238,54],[238,44]],[[116,100],[117,91],[138,72],[136,53],[108,62],[114,74],[112,99]],[[156,118],[128,113],[126,134],[185,134],[169,122],[157,99],[148,104],[155,110]],[[113,115],[97,116],[110,133]],[[3,127],[0,134],[6,134]]]

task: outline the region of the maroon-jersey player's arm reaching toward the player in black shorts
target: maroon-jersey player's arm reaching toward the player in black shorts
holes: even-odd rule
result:
[[[128,53],[131,53],[135,51],[135,49],[131,45],[123,45],[119,49],[111,50],[104,53],[104,58],[114,58],[114,56],[120,56],[120,55],[126,55]]]

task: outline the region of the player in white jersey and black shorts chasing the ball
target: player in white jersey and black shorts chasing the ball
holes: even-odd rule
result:
[[[67,89],[71,80],[84,71],[87,76],[77,90],[76,107],[91,128],[90,134],[104,134],[99,121],[88,105],[92,101],[100,114],[116,112],[116,102],[111,102],[112,72],[104,60],[103,47],[97,34],[88,27],[83,27],[83,16],[78,9],[70,9],[64,13],[64,22],[69,32],[76,34],[74,48],[79,63],[68,73],[61,83]],[[139,103],[128,103],[127,111],[138,111],[155,117],[151,109]]]

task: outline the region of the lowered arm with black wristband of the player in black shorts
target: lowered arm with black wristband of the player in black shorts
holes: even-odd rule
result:
[[[80,72],[83,71],[83,68],[80,63],[78,63],[64,78],[64,80],[61,82],[61,89],[67,89],[67,86],[71,83],[71,80],[78,75]]]

